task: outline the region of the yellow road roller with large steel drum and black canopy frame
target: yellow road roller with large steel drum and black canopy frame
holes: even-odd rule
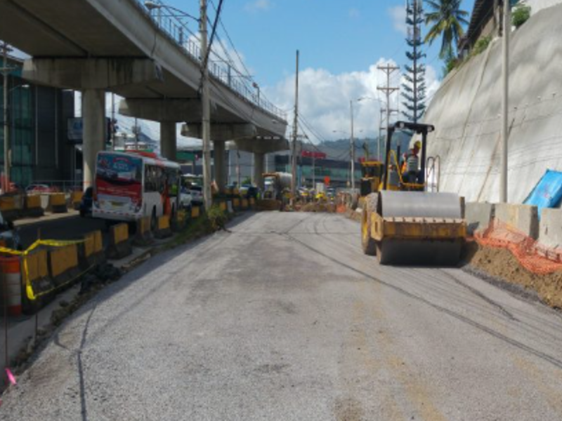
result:
[[[401,171],[399,152],[391,150],[398,130],[421,135],[421,168]],[[457,265],[466,238],[461,201],[455,193],[426,192],[429,124],[398,121],[388,128],[381,173],[361,180],[362,249],[381,265]],[[365,168],[365,167],[364,167]],[[379,184],[377,185],[377,179]],[[369,192],[370,190],[370,192]]]

